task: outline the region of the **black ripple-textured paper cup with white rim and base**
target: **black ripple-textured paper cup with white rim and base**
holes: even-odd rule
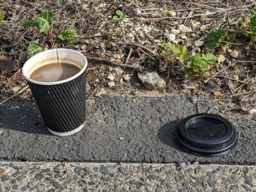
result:
[[[59,62],[77,65],[79,73],[58,82],[37,82],[30,79],[38,67]],[[38,53],[26,61],[22,73],[26,78],[44,123],[58,136],[80,131],[86,121],[86,67],[84,55],[71,49],[51,49]]]

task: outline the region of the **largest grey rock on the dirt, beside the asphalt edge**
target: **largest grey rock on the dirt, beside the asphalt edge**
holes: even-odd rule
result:
[[[156,90],[166,86],[164,79],[161,79],[156,72],[138,73],[138,77],[143,86],[148,88],[148,90]]]

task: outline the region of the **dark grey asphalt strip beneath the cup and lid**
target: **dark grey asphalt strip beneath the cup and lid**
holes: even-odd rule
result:
[[[214,113],[217,105],[203,96],[197,101],[191,96],[106,96],[88,100],[84,129],[68,137],[47,131],[36,104],[1,106],[0,159],[256,164],[256,123],[245,118],[232,119],[238,146],[227,156],[203,158],[177,147],[174,133],[181,119],[198,111]]]

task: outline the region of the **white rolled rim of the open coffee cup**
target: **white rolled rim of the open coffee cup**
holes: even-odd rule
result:
[[[58,51],[69,51],[69,52],[73,52],[73,53],[75,53],[75,54],[80,55],[80,56],[84,59],[85,65],[84,65],[84,67],[82,67],[82,69],[81,69],[81,71],[79,71],[79,73],[73,75],[72,77],[69,77],[69,78],[67,78],[67,79],[63,79],[63,80],[57,81],[57,82],[38,82],[38,81],[35,81],[35,80],[31,79],[30,77],[28,77],[28,75],[26,75],[26,73],[24,72],[24,69],[25,69],[26,67],[28,67],[28,65],[30,65],[30,62],[31,62],[32,60],[35,60],[35,57],[38,57],[38,56],[40,56],[40,55],[43,55],[43,54],[46,53],[46,52],[55,52],[55,51],[57,51],[57,49],[49,49],[49,50],[47,50],[47,51],[43,51],[43,52],[41,52],[41,53],[38,53],[38,54],[34,55],[34,56],[31,57],[30,59],[28,59],[28,61],[26,61],[26,63],[24,63],[24,65],[23,65],[23,67],[22,67],[22,75],[25,77],[25,79],[26,79],[28,82],[31,82],[31,83],[33,83],[33,84],[38,84],[38,85],[41,85],[41,86],[53,86],[53,85],[64,84],[64,83],[66,83],[66,82],[70,82],[71,80],[75,79],[76,77],[78,77],[79,75],[81,75],[82,73],[84,73],[84,71],[86,70],[87,65],[88,65],[88,61],[87,61],[86,57],[85,57],[82,53],[79,53],[78,51],[75,51],[75,50],[73,50],[73,49],[63,49],[63,48],[62,48],[62,49],[58,49]]]

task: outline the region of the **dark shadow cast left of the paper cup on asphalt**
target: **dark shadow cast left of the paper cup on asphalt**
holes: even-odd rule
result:
[[[1,129],[11,129],[25,133],[52,135],[40,115],[40,111],[35,105],[1,106],[0,108]]]

